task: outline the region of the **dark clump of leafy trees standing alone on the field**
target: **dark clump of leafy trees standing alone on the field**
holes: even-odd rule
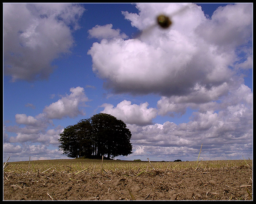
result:
[[[106,113],[67,126],[59,136],[59,149],[71,158],[114,158],[133,153],[131,131],[122,120]]]

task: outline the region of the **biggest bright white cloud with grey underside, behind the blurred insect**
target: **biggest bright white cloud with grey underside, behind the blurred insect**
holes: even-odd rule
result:
[[[169,14],[183,6],[138,4],[139,14],[123,14],[132,26],[144,29],[154,23],[160,11]],[[197,5],[188,7],[172,18],[171,29],[153,27],[138,39],[114,38],[93,43],[88,54],[93,71],[105,79],[105,87],[116,93],[157,93],[169,97],[198,92],[198,87],[212,90],[229,84],[234,75],[230,66],[237,67],[251,56],[247,52],[247,58],[241,59],[235,52],[237,46],[251,39],[251,5],[218,9],[212,19],[207,19]],[[232,18],[236,11],[244,14],[245,21]],[[224,47],[222,42],[226,40],[229,46]]]

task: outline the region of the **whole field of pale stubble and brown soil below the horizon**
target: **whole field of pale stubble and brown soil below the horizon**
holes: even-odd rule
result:
[[[3,200],[252,200],[252,161],[4,163]]]

